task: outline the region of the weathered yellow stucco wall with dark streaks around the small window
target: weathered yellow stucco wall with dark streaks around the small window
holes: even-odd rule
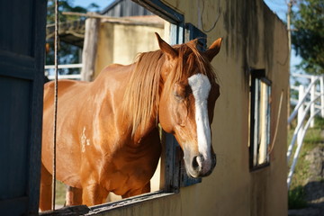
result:
[[[220,79],[220,98],[211,127],[218,163],[201,184],[181,188],[180,193],[172,196],[110,211],[107,215],[287,215],[289,56],[284,23],[261,0],[163,2],[184,14],[185,23],[209,31],[206,32],[209,45],[223,37],[220,54],[212,61]],[[254,172],[250,172],[248,164],[249,68],[265,68],[266,76],[272,81],[271,140],[280,94],[284,90],[270,166]]]

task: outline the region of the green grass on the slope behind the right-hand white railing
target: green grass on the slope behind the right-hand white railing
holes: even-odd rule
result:
[[[293,137],[293,130],[294,129],[290,130],[288,133],[288,143],[290,143]],[[315,127],[307,130],[305,138],[303,140],[301,153],[298,158],[298,162],[293,174],[292,184],[288,192],[289,209],[301,209],[307,206],[304,185],[306,184],[306,180],[310,176],[310,162],[306,160],[306,156],[309,151],[311,151],[313,148],[317,147],[320,143],[323,142],[323,138],[321,138],[320,135],[321,130],[324,130],[324,119],[318,117],[315,119]],[[290,164],[291,163],[292,159],[290,161]]]

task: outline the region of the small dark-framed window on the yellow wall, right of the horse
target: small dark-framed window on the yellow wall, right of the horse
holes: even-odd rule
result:
[[[257,85],[258,84],[258,85]],[[261,93],[261,85],[266,85],[266,112],[264,112],[264,117],[262,117],[262,111],[260,110],[259,105],[260,98],[262,97]],[[272,82],[270,79],[266,77],[266,69],[252,69],[250,71],[250,112],[249,112],[249,168],[250,171],[254,171],[260,168],[264,168],[266,166],[270,166],[270,154],[268,148],[271,143],[271,95],[272,95]],[[257,100],[256,100],[257,97]],[[257,110],[256,110],[257,109]],[[262,135],[260,132],[260,125],[261,125],[261,118],[263,121],[266,121],[266,125],[264,125],[263,130],[266,130],[266,134]],[[265,162],[258,162],[259,156],[262,154],[260,153],[260,137],[266,136],[266,155]],[[256,138],[258,139],[256,141]]]

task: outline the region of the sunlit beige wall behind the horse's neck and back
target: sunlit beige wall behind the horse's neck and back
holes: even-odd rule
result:
[[[136,23],[100,24],[94,77],[110,64],[129,65],[140,52],[157,50],[154,32],[164,36],[164,22],[149,25]]]

